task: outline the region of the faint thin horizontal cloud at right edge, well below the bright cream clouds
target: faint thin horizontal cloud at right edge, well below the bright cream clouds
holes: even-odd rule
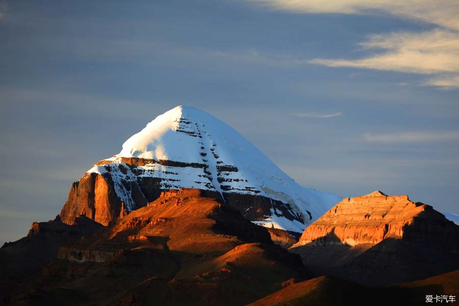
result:
[[[366,133],[363,135],[363,139],[367,142],[374,143],[414,143],[459,140],[459,131],[398,132],[389,134]]]

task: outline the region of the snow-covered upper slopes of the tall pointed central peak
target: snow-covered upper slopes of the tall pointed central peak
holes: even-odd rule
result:
[[[87,172],[110,176],[128,211],[138,205],[126,182],[136,182],[147,201],[151,186],[199,188],[220,193],[257,224],[298,233],[342,199],[299,186],[232,127],[184,106],[158,116],[127,139],[118,155]]]

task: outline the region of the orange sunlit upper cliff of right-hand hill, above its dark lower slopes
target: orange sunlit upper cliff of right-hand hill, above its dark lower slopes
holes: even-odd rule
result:
[[[431,206],[412,202],[407,195],[387,196],[375,191],[360,197],[344,198],[306,228],[297,246],[310,243],[354,246],[397,238],[443,243],[457,248],[457,241],[444,235],[447,232],[443,230],[449,223]]]

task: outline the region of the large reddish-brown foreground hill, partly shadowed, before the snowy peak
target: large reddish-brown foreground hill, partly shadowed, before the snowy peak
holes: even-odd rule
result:
[[[74,240],[4,303],[242,305],[307,279],[297,254],[212,192],[163,192]]]

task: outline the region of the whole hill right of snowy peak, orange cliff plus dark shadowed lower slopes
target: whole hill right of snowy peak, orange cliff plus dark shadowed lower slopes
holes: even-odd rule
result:
[[[343,199],[290,250],[318,274],[389,285],[459,269],[459,226],[406,195],[375,191]]]

